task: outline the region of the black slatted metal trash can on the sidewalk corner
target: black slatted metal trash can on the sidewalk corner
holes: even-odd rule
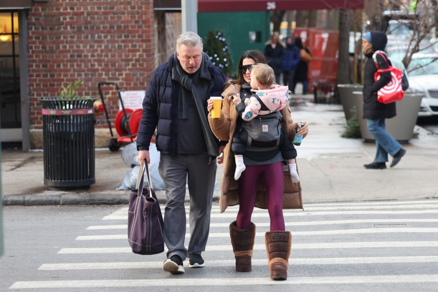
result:
[[[94,177],[94,99],[40,98],[44,184],[87,188]]]

